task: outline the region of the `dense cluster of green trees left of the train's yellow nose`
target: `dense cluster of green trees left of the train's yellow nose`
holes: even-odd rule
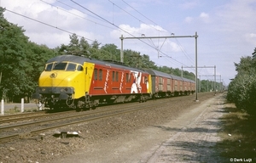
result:
[[[34,91],[45,61],[54,51],[29,42],[20,26],[3,18],[3,11],[0,8],[0,98],[13,101]]]

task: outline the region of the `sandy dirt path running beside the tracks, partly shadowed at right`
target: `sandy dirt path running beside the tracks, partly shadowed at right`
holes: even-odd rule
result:
[[[224,162],[214,149],[223,94],[191,105],[170,121],[88,143],[72,155],[49,162]]]

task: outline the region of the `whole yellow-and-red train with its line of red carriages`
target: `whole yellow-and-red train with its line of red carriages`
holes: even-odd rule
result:
[[[50,109],[84,110],[99,104],[145,102],[195,93],[195,81],[79,55],[49,59],[32,98]]]

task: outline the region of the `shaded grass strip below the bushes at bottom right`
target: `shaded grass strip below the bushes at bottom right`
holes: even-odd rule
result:
[[[255,116],[236,109],[235,104],[225,104],[224,116],[220,119],[222,130],[218,132],[221,142],[217,148],[224,158],[250,158],[256,161]]]

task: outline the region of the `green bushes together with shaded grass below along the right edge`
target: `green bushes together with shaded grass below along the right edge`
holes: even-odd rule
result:
[[[235,64],[237,75],[230,82],[225,114],[220,119],[223,130],[218,135],[222,141],[217,149],[226,162],[256,161],[256,48],[252,54]]]

